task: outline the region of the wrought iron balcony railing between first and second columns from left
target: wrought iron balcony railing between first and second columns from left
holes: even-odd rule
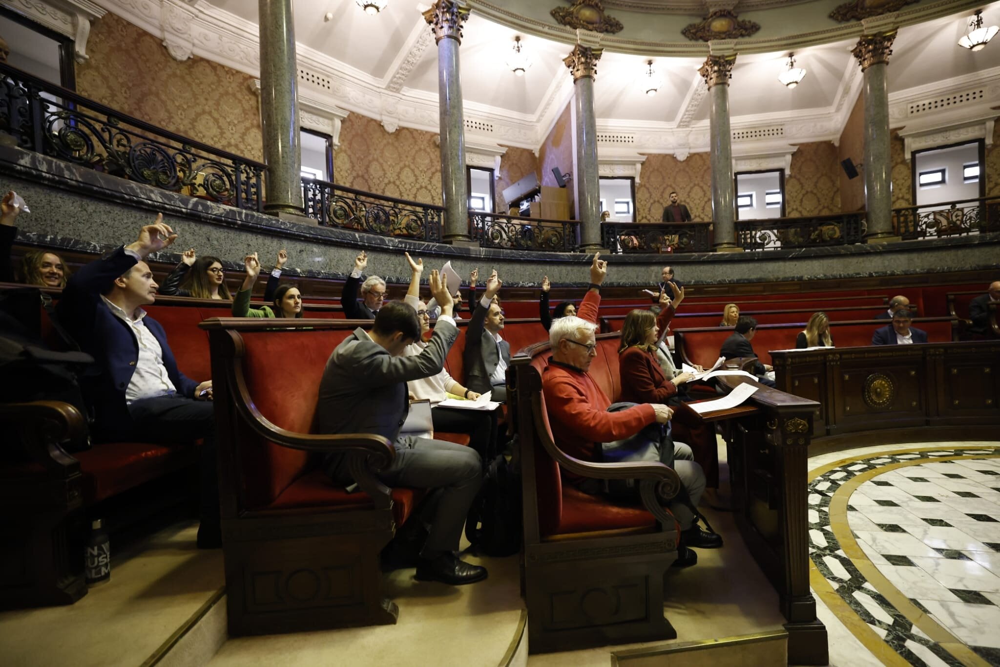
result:
[[[441,241],[442,206],[384,197],[312,178],[302,179],[302,201],[306,215],[326,227]]]

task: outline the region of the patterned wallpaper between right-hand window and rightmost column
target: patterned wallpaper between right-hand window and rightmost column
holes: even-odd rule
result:
[[[785,215],[840,213],[840,169],[837,147],[830,141],[800,144],[792,153],[791,175],[785,177]]]

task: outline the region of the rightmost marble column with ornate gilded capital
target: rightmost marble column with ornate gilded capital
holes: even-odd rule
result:
[[[861,64],[865,107],[865,210],[868,243],[899,241],[892,228],[892,165],[889,155],[887,70],[896,32],[863,35],[851,51]]]

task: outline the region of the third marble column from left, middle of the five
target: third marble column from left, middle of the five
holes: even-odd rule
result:
[[[594,116],[594,77],[603,49],[577,44],[563,59],[573,74],[576,111],[576,217],[580,221],[580,249],[594,252],[601,242],[601,194],[597,172],[597,118]]]

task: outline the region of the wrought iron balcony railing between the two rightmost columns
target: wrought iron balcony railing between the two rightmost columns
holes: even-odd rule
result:
[[[864,211],[736,223],[736,245],[744,250],[851,245],[862,243],[864,236]]]

